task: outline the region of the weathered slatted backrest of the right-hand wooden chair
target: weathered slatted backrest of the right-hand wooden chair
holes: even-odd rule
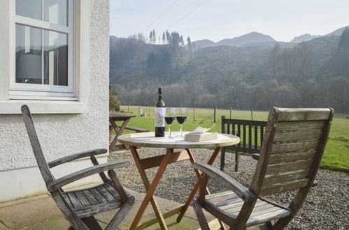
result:
[[[273,108],[252,190],[269,195],[309,186],[318,170],[332,109]]]

